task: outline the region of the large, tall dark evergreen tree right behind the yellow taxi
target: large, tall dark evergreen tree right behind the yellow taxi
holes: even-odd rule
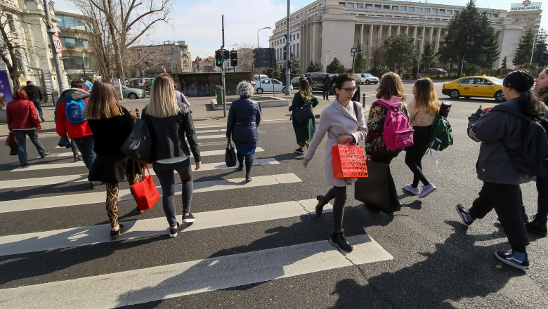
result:
[[[497,33],[487,13],[476,7],[476,1],[470,0],[467,8],[453,15],[447,29],[438,50],[442,63],[452,59],[461,65],[464,58],[479,67],[492,67],[499,56]]]

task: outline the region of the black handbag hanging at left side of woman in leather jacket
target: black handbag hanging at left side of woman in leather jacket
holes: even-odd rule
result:
[[[131,133],[122,145],[122,152],[133,161],[146,165],[152,163],[152,139],[145,121],[137,119]]]

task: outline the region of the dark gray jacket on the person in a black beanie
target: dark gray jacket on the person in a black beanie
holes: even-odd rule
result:
[[[512,164],[510,156],[504,150],[502,140],[509,148],[518,147],[522,143],[521,118],[501,112],[497,107],[506,105],[519,110],[518,100],[514,98],[500,103],[483,113],[478,109],[468,117],[468,136],[476,142],[481,142],[476,172],[478,178],[488,183],[520,185],[533,180],[534,176],[521,173]]]

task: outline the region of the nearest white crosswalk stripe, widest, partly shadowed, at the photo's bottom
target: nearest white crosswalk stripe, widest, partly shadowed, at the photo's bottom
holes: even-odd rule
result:
[[[73,280],[0,289],[4,308],[117,308],[393,259],[369,235],[327,240]],[[112,287],[116,287],[113,289]]]

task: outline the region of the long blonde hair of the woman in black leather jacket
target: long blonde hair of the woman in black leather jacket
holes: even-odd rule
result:
[[[173,78],[167,73],[159,74],[150,89],[147,114],[152,117],[167,118],[176,115],[179,111]]]

